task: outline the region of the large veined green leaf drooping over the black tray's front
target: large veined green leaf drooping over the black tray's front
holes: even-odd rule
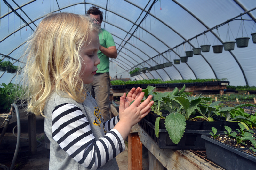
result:
[[[178,144],[183,136],[186,127],[185,121],[184,116],[177,112],[170,113],[166,116],[165,127],[174,144]]]

